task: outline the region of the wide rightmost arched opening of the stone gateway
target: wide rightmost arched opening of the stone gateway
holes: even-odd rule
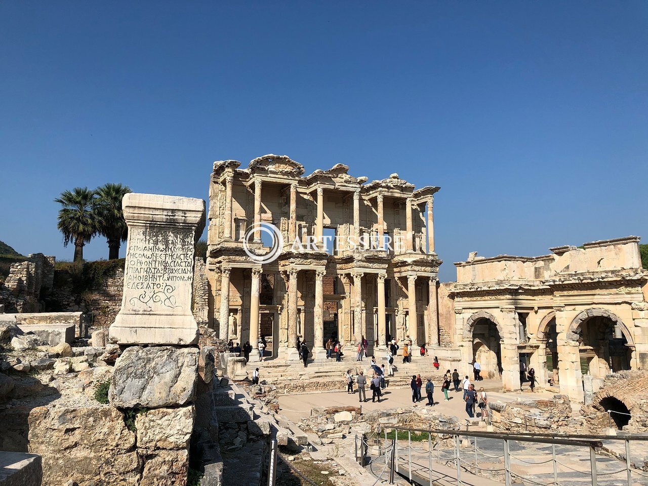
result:
[[[615,314],[606,309],[581,312],[570,325],[579,343],[581,373],[592,378],[631,369],[632,338]]]

